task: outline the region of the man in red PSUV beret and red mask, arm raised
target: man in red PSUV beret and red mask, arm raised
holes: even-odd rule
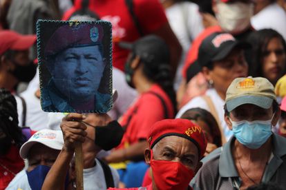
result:
[[[86,140],[86,127],[81,125],[81,114],[69,114],[63,120],[70,133],[64,133],[64,148],[50,169],[42,189],[62,189],[68,162],[73,156],[75,142]],[[77,120],[74,122],[73,120]],[[68,125],[67,125],[68,124]],[[77,129],[77,132],[73,129]],[[160,120],[151,126],[148,147],[144,151],[146,163],[151,165],[152,184],[148,187],[130,188],[140,190],[187,190],[189,181],[200,169],[207,140],[202,129],[186,119]],[[116,188],[109,188],[110,190]]]

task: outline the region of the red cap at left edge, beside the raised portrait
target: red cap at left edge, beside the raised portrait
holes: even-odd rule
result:
[[[0,55],[7,50],[27,50],[36,41],[36,35],[21,35],[12,30],[0,32]]]

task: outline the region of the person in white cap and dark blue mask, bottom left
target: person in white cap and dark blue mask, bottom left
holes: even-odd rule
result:
[[[46,174],[54,164],[64,145],[61,131],[42,129],[37,131],[20,149],[20,156],[28,162],[28,168],[20,171],[7,189],[41,189]]]

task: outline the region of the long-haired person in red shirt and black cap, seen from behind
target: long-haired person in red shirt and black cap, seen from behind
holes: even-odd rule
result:
[[[159,120],[174,117],[175,92],[169,49],[163,39],[149,35],[121,45],[131,50],[125,65],[126,82],[140,96],[120,120],[125,130],[120,146],[105,160],[118,169],[126,187],[138,187],[148,167],[144,149],[149,129]]]

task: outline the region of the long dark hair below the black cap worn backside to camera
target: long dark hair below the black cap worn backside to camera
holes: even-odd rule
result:
[[[136,54],[133,52],[133,56]],[[140,56],[140,55],[139,55]],[[149,78],[149,80],[157,83],[162,87],[164,92],[169,96],[173,104],[174,113],[177,112],[177,101],[175,90],[173,89],[173,77],[171,75],[171,66],[169,54],[166,54],[164,61],[145,61],[140,59],[140,62],[143,63],[143,73]],[[155,62],[155,63],[154,63]]]

